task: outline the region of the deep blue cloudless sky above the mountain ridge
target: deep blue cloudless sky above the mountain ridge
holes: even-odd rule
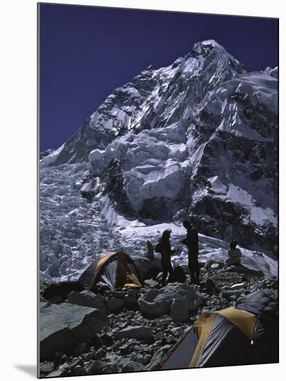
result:
[[[116,89],[215,39],[248,71],[278,64],[278,20],[41,4],[40,150],[57,148]]]

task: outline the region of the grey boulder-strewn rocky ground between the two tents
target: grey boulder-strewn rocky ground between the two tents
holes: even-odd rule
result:
[[[42,299],[42,308],[51,308],[53,326],[57,326],[53,309],[67,312],[63,324],[68,329],[63,334],[60,327],[55,328],[57,333],[54,332],[53,337],[48,333],[46,342],[42,340],[41,330],[41,351],[43,342],[48,348],[51,344],[56,348],[57,340],[69,345],[44,355],[40,376],[148,371],[177,343],[199,314],[234,306],[256,290],[278,287],[275,276],[266,277],[239,267],[222,267],[221,263],[206,263],[201,278],[200,285],[188,285],[187,277],[185,283],[168,283],[159,288],[158,279],[150,279],[141,290],[114,290],[104,295],[87,290],[71,292],[60,304]],[[72,322],[69,308],[75,308]],[[76,321],[77,313],[82,314],[84,308],[86,317]],[[42,314],[40,321],[47,316],[47,312]],[[48,320],[45,324],[51,326]],[[88,332],[87,326],[92,328]],[[80,337],[71,342],[71,337],[64,336],[68,332],[73,333],[73,339]]]

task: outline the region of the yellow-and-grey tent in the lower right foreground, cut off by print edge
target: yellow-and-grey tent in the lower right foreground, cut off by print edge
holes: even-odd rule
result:
[[[278,362],[277,301],[275,292],[261,290],[236,308],[202,314],[150,370],[273,362]]]

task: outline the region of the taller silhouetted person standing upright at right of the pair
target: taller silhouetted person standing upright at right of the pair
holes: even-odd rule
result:
[[[181,243],[188,247],[190,281],[192,283],[199,283],[199,235],[197,230],[187,220],[183,222],[183,226],[187,230],[187,235]]]

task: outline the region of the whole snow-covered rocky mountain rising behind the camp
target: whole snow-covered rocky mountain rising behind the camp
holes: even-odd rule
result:
[[[116,221],[191,218],[206,235],[275,251],[277,74],[247,73],[198,42],[115,89],[42,166],[89,160],[82,192]]]

